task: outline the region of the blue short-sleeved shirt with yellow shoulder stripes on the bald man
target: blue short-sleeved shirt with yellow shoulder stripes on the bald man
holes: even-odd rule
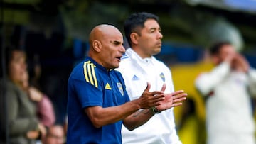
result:
[[[108,71],[87,57],[68,79],[68,144],[122,143],[122,121],[95,128],[84,112],[88,106],[118,106],[129,101],[122,74]]]

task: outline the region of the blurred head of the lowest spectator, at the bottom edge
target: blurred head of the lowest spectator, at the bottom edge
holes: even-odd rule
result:
[[[43,144],[63,144],[65,143],[64,128],[61,125],[54,125],[48,128]]]

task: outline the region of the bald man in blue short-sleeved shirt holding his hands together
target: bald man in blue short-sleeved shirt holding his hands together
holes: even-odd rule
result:
[[[113,70],[124,52],[117,28],[103,24],[92,29],[88,57],[68,79],[67,143],[121,144],[122,123],[132,131],[154,116],[155,106],[165,110],[185,99],[181,91],[164,94],[165,85],[161,91],[149,92],[148,84],[139,99],[130,101],[122,75]],[[139,114],[139,109],[148,111]]]

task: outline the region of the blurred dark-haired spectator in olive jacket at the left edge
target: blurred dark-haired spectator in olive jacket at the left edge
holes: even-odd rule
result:
[[[36,143],[36,139],[46,134],[46,128],[38,121],[36,105],[23,90],[26,78],[26,54],[22,50],[6,49],[7,79],[1,79],[0,94],[6,96],[7,114],[0,113],[0,131],[9,135],[9,143]],[[25,84],[26,85],[26,84]],[[4,107],[4,106],[1,106]],[[6,121],[7,117],[7,122]],[[1,135],[1,143],[6,143]]]

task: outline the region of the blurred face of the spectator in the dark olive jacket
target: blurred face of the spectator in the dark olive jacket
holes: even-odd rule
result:
[[[14,50],[8,65],[9,79],[16,84],[21,84],[26,74],[26,55],[24,52]]]

